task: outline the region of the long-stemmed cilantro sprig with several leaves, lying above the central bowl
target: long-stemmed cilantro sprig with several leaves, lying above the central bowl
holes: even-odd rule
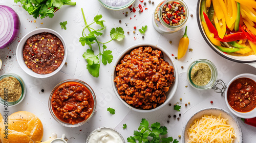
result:
[[[87,69],[89,71],[89,73],[93,76],[93,77],[99,77],[99,68],[100,68],[100,62],[102,62],[104,65],[111,63],[113,60],[113,55],[112,55],[112,51],[110,50],[106,50],[106,43],[109,43],[112,40],[117,40],[117,41],[121,41],[125,36],[124,36],[124,31],[122,28],[118,27],[118,28],[112,28],[110,31],[110,36],[111,36],[111,40],[109,40],[108,42],[100,42],[97,39],[97,36],[101,36],[103,33],[101,32],[102,30],[104,30],[106,27],[104,26],[104,20],[101,20],[102,15],[96,15],[94,17],[94,21],[88,25],[87,21],[86,21],[86,17],[84,16],[83,10],[82,10],[82,16],[83,16],[83,20],[84,23],[86,24],[86,27],[83,28],[82,30],[82,37],[80,37],[79,41],[81,42],[81,44],[84,45],[89,45],[90,49],[88,49],[86,52],[83,53],[82,57],[84,59],[87,60]],[[93,29],[92,27],[90,27],[91,25],[93,25],[94,23],[96,23],[97,25],[100,26],[100,29]],[[86,30],[88,30],[88,34],[86,33]],[[93,50],[93,43],[97,43],[98,48],[99,48],[99,54],[95,55],[94,54],[94,50]],[[103,50],[101,51],[100,48],[100,44],[102,44]]]

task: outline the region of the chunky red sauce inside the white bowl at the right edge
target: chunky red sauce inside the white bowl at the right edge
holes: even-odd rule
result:
[[[249,112],[256,107],[256,83],[249,78],[234,80],[227,91],[229,105],[238,112]]]

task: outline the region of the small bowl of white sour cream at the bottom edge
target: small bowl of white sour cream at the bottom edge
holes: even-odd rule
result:
[[[86,143],[106,142],[106,143],[125,143],[123,136],[115,129],[100,127],[91,132]]]

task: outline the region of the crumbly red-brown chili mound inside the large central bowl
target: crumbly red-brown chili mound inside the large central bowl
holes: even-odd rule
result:
[[[163,60],[163,53],[151,46],[140,46],[126,54],[116,66],[114,82],[120,97],[143,109],[156,108],[166,100],[165,93],[175,81],[174,68]]]

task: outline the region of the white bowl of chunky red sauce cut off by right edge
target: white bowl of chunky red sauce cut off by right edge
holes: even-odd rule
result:
[[[225,90],[228,109],[242,118],[256,117],[256,75],[241,74],[234,77]]]

